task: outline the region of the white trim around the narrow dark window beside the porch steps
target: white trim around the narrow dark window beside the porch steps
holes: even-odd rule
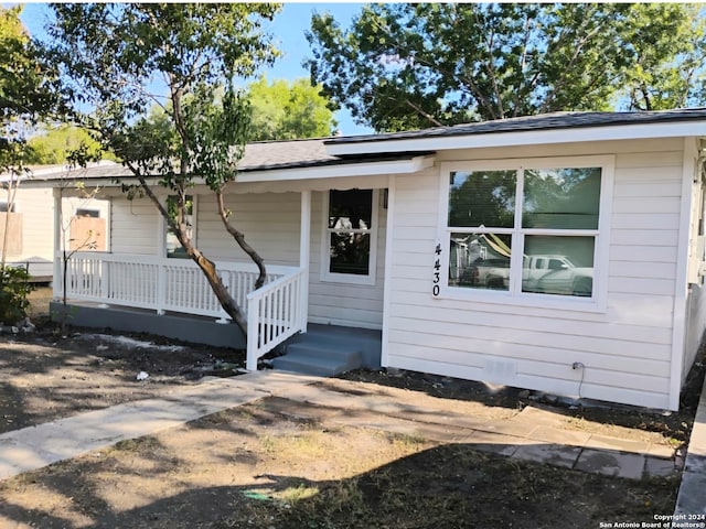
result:
[[[357,273],[336,273],[329,271],[329,267],[331,264],[331,242],[329,237],[329,199],[331,194],[330,191],[322,193],[323,204],[321,207],[321,281],[332,283],[363,284],[370,287],[375,285],[377,278],[377,234],[379,231],[379,190],[372,191],[372,228],[370,229],[370,231],[367,231],[371,237],[371,255],[367,276]]]

